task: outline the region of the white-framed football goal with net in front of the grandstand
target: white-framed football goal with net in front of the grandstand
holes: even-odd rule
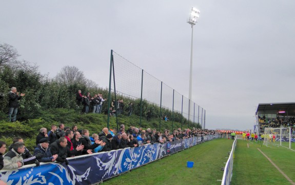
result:
[[[267,147],[285,147],[291,149],[290,128],[265,128],[263,134],[263,145]]]

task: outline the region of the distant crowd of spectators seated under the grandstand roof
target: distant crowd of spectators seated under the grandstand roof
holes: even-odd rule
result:
[[[277,118],[267,118],[258,116],[260,132],[264,132],[264,128],[280,128],[280,127],[291,127],[295,130],[295,117],[277,116]]]

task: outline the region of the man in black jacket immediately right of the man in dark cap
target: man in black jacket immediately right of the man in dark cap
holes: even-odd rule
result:
[[[57,154],[56,161],[65,162],[66,165],[69,164],[67,160],[67,155],[68,155],[67,145],[68,145],[68,140],[65,137],[61,137],[49,146],[51,154],[52,155]]]

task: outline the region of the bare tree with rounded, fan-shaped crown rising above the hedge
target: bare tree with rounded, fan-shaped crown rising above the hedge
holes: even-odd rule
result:
[[[65,66],[57,73],[55,79],[65,85],[86,84],[84,73],[75,66]]]

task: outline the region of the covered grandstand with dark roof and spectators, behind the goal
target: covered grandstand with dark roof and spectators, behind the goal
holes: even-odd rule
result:
[[[295,132],[295,102],[259,104],[256,111],[259,132],[268,127],[291,127]]]

